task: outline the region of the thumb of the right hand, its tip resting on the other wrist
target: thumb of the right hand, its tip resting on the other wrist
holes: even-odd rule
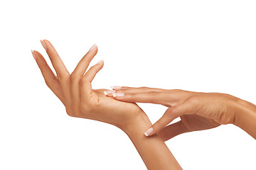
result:
[[[180,117],[183,114],[188,113],[189,109],[189,103],[181,103],[180,105],[176,105],[174,107],[168,108],[164,115],[154,123],[154,125],[149,128],[149,130],[146,130],[144,133],[146,136],[154,135],[156,132],[159,132],[160,130],[164,129],[166,125],[171,123],[174,119]]]

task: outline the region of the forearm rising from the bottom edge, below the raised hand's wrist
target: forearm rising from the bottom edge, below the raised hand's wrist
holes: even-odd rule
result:
[[[142,157],[147,169],[181,169],[181,166],[159,135],[151,137],[144,135],[144,132],[151,125],[147,117],[138,118],[137,122],[135,121],[134,124],[124,129]]]

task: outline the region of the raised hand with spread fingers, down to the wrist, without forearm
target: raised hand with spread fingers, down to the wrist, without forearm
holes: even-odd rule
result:
[[[68,115],[110,123],[122,130],[138,118],[147,118],[136,103],[125,103],[107,98],[103,94],[103,91],[107,89],[92,90],[91,82],[104,64],[103,61],[98,62],[85,73],[90,61],[97,54],[96,45],[92,46],[89,52],[82,57],[73,73],[70,74],[53,45],[48,40],[42,40],[41,43],[57,75],[53,74],[39,52],[32,51],[33,57],[41,69],[47,86],[62,101]]]

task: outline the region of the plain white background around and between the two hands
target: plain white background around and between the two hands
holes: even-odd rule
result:
[[[255,1],[1,1],[0,169],[146,169],[127,135],[71,118],[31,49],[53,43],[70,72],[96,42],[93,88],[222,92],[256,103]],[[164,106],[141,104],[152,123]],[[183,169],[256,169],[256,142],[234,125],[166,142]]]

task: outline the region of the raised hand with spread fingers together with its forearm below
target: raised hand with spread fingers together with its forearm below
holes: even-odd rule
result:
[[[123,130],[137,148],[147,169],[181,169],[159,135],[143,135],[146,128],[152,124],[136,103],[107,98],[103,94],[107,89],[92,89],[91,82],[104,64],[101,61],[87,70],[92,58],[97,54],[96,45],[90,48],[70,74],[53,45],[48,40],[41,40],[41,43],[50,57],[56,75],[41,53],[32,51],[32,55],[47,86],[64,104],[68,115],[110,123]]]

